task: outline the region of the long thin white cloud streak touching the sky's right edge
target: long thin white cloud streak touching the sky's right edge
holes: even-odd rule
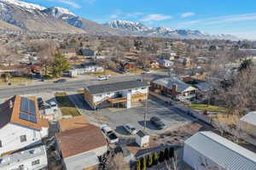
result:
[[[195,24],[201,24],[204,26],[212,26],[226,23],[234,23],[239,21],[256,20],[256,14],[233,14],[224,15],[219,17],[212,17],[202,20],[190,20],[188,22],[180,22],[178,26],[193,26]]]

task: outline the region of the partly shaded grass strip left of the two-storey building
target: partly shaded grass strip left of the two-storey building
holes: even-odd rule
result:
[[[66,93],[55,93],[55,99],[58,102],[63,116],[80,116],[79,111]]]

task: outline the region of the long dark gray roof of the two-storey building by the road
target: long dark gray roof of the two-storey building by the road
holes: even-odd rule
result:
[[[85,89],[88,90],[90,94],[105,94],[121,90],[128,90],[131,88],[146,88],[148,86],[148,82],[134,80],[128,82],[112,82],[108,84],[92,85],[86,87]]]

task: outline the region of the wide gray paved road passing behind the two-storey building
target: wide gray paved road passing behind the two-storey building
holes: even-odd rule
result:
[[[86,79],[79,81],[70,81],[62,83],[48,83],[40,85],[32,85],[26,87],[15,87],[15,88],[0,88],[0,98],[7,98],[17,94],[37,94],[43,92],[55,92],[55,91],[77,91],[79,88],[84,88],[88,85],[102,84],[108,82],[122,82],[141,78],[140,76],[124,76],[124,77],[111,77],[108,81],[96,81],[96,79]]]

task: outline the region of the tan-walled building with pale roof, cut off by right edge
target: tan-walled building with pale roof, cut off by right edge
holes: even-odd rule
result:
[[[251,111],[242,116],[239,123],[241,129],[256,137],[256,111]]]

